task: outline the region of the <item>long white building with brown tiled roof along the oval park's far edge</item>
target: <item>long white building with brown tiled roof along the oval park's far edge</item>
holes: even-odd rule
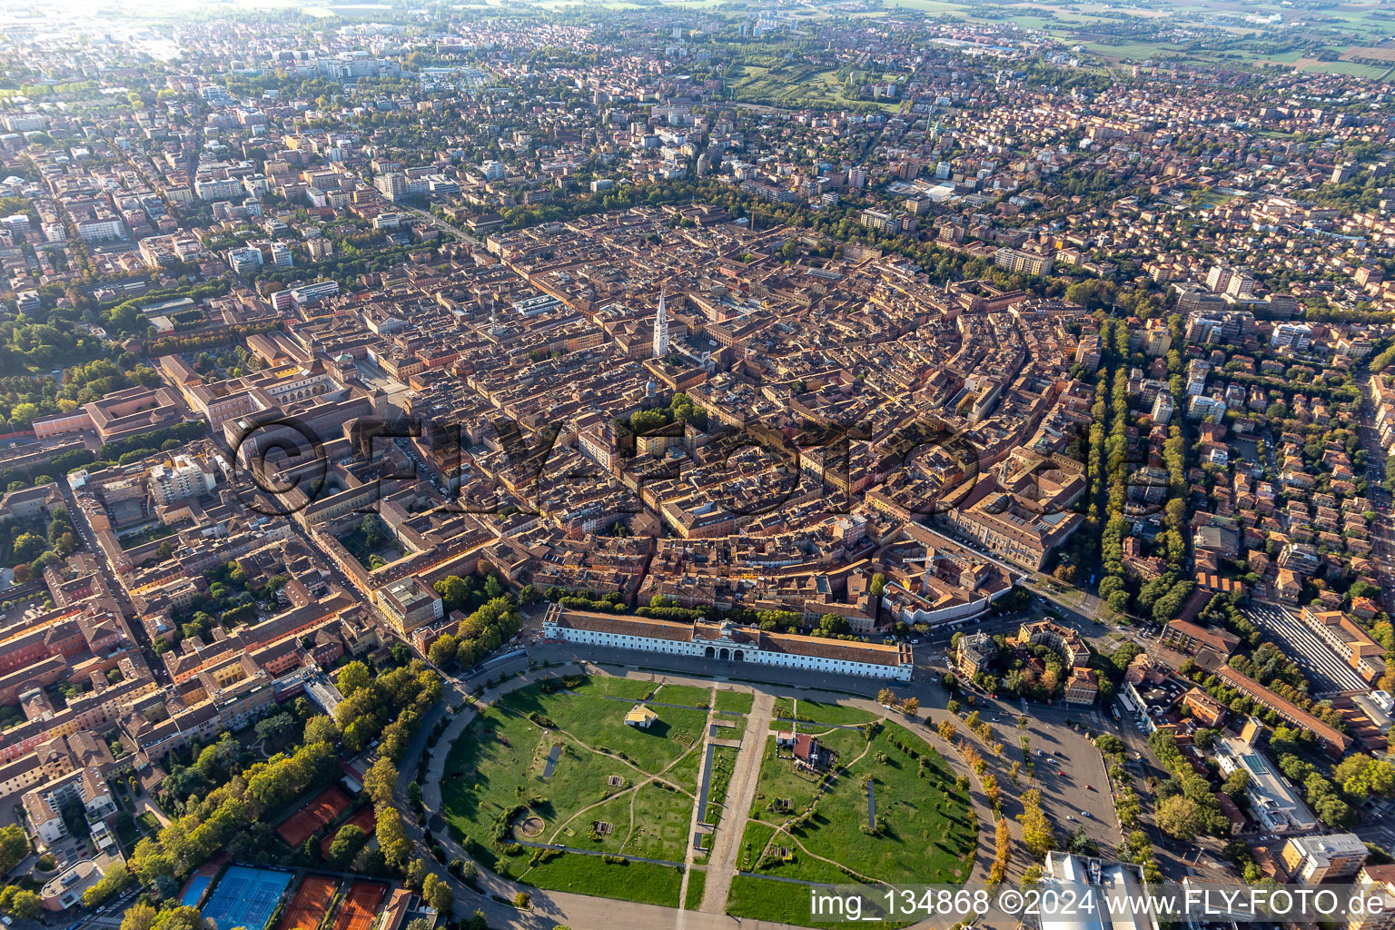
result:
[[[679,623],[647,616],[564,611],[552,605],[543,620],[550,640],[751,662],[812,672],[911,680],[911,647],[880,646],[819,636],[766,633],[735,623]]]

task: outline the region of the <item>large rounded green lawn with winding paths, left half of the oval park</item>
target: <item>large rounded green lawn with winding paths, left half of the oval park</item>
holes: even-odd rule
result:
[[[625,867],[607,867],[600,857],[561,856],[530,866],[534,849],[509,845],[522,839],[555,842],[671,862],[682,862],[686,852],[706,712],[661,707],[649,731],[636,729],[624,718],[629,701],[649,693],[647,683],[612,678],[573,683],[571,693],[545,693],[531,685],[473,721],[446,757],[442,811],[452,831],[472,841],[472,855],[501,874],[559,891],[591,888],[590,878],[578,878],[579,873],[600,876],[601,884],[589,894],[656,904],[656,895],[671,895],[664,902],[677,906],[677,878],[653,871],[657,866],[633,863],[643,881],[631,890],[624,876],[612,877]],[[551,778],[544,779],[554,746],[562,753]],[[603,747],[631,764],[604,754]],[[660,772],[677,788],[649,781]],[[612,778],[619,784],[610,784]],[[527,810],[516,813],[513,827],[495,839],[502,816],[518,805]],[[520,824],[533,816],[543,821],[543,830],[525,835]],[[597,821],[611,824],[611,831],[593,832]],[[617,894],[598,890],[610,887],[605,881],[611,878]]]

